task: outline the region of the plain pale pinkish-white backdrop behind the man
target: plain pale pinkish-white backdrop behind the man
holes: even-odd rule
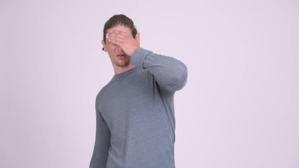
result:
[[[104,23],[188,67],[175,163],[299,167],[298,1],[0,1],[0,167],[88,167]]]

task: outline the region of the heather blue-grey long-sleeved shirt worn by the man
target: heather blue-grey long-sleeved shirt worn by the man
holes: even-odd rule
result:
[[[179,60],[139,48],[135,67],[115,74],[96,96],[90,168],[174,168],[174,94],[187,81]]]

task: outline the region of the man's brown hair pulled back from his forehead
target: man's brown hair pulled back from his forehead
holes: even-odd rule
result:
[[[135,36],[137,34],[137,29],[136,29],[136,26],[134,25],[134,22],[132,21],[132,19],[128,18],[126,15],[123,15],[123,14],[113,15],[113,17],[111,17],[109,20],[107,20],[104,25],[103,40],[104,40],[105,44],[106,44],[107,29],[116,27],[118,25],[123,25],[123,26],[130,28],[133,38],[135,38]],[[102,50],[104,50],[104,48]]]

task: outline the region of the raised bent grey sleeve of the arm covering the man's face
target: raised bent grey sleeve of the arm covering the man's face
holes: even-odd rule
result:
[[[173,57],[138,48],[131,57],[131,64],[147,68],[155,76],[158,85],[169,92],[174,93],[186,85],[187,67]]]

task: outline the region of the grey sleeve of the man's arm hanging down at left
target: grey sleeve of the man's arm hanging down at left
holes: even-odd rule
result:
[[[98,97],[97,97],[98,98]],[[111,133],[97,107],[96,98],[96,136],[90,168],[106,168]]]

